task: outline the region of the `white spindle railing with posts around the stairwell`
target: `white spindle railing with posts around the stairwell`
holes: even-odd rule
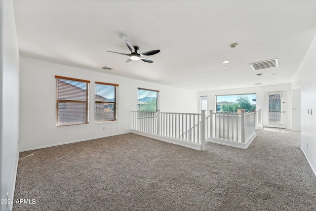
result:
[[[160,112],[158,110],[158,112],[133,111],[132,129],[159,137],[167,137],[168,142],[178,140],[182,141],[180,143],[193,143],[196,145],[191,148],[204,151],[206,140],[245,145],[250,139],[253,140],[255,129],[260,125],[262,126],[261,110],[245,113],[245,109],[240,109],[240,114],[214,113],[213,110],[210,110],[210,115],[207,117],[205,117],[205,110],[202,110],[201,114]],[[186,144],[184,145],[186,146]]]

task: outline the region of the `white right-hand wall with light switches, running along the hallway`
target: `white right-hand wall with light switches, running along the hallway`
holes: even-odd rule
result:
[[[301,148],[316,175],[316,36],[298,70],[301,77]],[[313,109],[313,115],[308,114]]]

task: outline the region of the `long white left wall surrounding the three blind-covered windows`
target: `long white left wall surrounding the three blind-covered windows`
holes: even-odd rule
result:
[[[137,87],[159,90],[160,110],[197,112],[197,92],[20,57],[20,150],[127,133]],[[90,123],[56,127],[55,75],[90,81]],[[94,82],[119,84],[118,121],[94,123]],[[105,127],[105,130],[103,130]]]

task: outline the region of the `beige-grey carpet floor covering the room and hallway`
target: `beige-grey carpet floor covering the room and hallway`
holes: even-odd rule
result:
[[[300,133],[267,129],[246,150],[129,133],[22,152],[13,211],[316,210]]]

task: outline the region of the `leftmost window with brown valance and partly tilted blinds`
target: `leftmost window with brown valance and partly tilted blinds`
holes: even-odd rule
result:
[[[56,126],[89,123],[89,81],[55,76]]]

